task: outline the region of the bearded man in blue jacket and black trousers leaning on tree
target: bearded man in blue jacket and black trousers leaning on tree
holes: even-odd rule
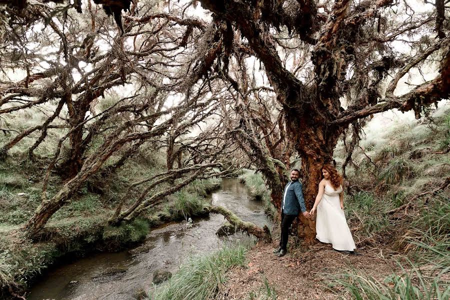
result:
[[[298,181],[300,171],[293,169],[290,172],[290,180],[284,187],[283,199],[281,202],[281,239],[279,240],[279,247],[273,250],[273,253],[281,257],[287,253],[287,238],[289,237],[289,227],[295,217],[298,215],[298,210],[308,219],[311,217],[306,211],[304,205],[303,191],[301,190],[301,183]]]

